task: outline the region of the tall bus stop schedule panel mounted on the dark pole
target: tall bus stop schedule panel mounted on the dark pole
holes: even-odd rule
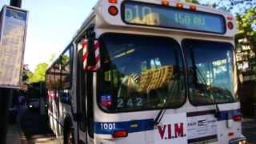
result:
[[[21,88],[28,11],[3,6],[0,21],[0,87]]]

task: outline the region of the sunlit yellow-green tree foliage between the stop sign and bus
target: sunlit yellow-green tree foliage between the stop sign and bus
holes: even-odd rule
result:
[[[45,81],[47,67],[47,63],[39,63],[36,69],[34,70],[34,73],[28,74],[29,82],[31,83]]]

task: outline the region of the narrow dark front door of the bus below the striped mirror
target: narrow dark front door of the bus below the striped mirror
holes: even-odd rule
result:
[[[93,110],[93,73],[83,70],[83,51],[78,52],[77,76],[77,104],[78,104],[78,141],[91,143],[94,137],[94,110]]]

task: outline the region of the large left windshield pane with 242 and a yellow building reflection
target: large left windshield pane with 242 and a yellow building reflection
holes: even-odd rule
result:
[[[103,34],[98,104],[106,112],[176,108],[186,101],[180,46],[174,39]]]

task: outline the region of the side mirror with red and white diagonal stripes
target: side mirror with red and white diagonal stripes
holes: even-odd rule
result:
[[[97,71],[101,67],[99,42],[94,39],[86,39],[82,42],[82,62],[86,71]]]

